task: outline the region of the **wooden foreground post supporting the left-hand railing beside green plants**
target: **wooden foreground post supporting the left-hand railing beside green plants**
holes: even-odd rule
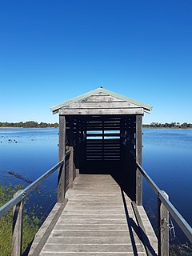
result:
[[[14,198],[21,192],[22,190],[18,190],[18,192],[14,194]],[[22,255],[22,208],[23,201],[18,202],[18,204],[13,208],[13,234],[11,256]]]

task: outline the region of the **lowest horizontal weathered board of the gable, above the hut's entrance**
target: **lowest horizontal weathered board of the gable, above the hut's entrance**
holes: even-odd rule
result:
[[[127,109],[61,109],[59,114],[63,115],[74,115],[74,114],[143,114],[143,109],[138,108],[127,108]]]

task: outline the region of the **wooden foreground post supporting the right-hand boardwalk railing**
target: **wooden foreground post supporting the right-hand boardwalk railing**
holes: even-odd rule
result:
[[[165,191],[164,196],[169,199]],[[169,211],[158,198],[158,256],[169,255]]]

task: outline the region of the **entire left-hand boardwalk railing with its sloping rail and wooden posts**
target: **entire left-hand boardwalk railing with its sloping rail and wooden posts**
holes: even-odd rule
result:
[[[18,190],[14,194],[14,198],[10,199],[9,202],[6,202],[3,206],[0,207],[0,218],[6,214],[9,210],[13,210],[13,229],[12,229],[12,245],[11,245],[11,256],[22,255],[22,218],[23,218],[23,206],[24,200],[28,194],[30,194],[35,188],[37,188],[42,181],[53,174],[55,170],[58,170],[58,194],[62,194],[62,198],[59,198],[61,203],[66,203],[65,193],[66,193],[66,166],[70,166],[68,174],[70,174],[70,179],[74,178],[71,155],[73,151],[67,150],[64,158],[53,166],[50,170],[47,170],[45,174],[42,174],[29,186],[26,186],[24,190]],[[66,156],[68,156],[66,158]],[[69,168],[69,167],[68,167]],[[67,189],[69,186],[67,187]]]

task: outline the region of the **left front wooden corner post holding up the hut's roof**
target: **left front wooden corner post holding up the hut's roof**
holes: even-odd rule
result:
[[[59,142],[58,142],[58,161],[62,161],[66,154],[66,117],[59,115]],[[58,202],[65,199],[65,162],[58,170]]]

